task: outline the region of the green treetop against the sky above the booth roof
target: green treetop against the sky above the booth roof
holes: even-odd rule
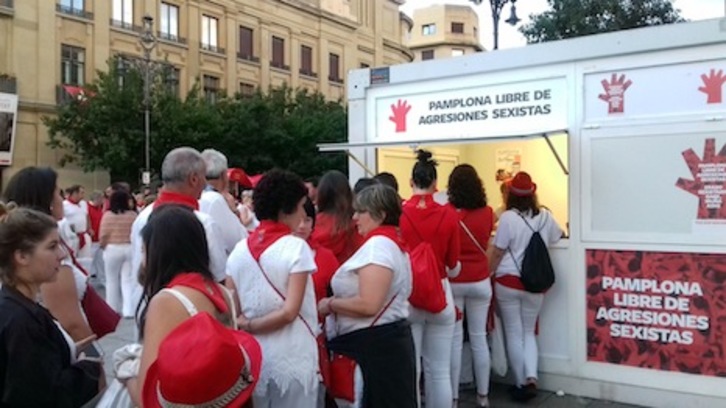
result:
[[[671,0],[547,0],[550,10],[520,27],[528,43],[685,21]]]

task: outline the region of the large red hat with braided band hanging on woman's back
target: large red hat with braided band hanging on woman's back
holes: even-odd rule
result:
[[[161,342],[144,381],[143,406],[241,407],[261,367],[262,350],[254,337],[202,312]]]

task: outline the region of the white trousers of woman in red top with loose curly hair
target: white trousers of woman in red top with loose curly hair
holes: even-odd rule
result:
[[[454,304],[466,312],[469,345],[474,357],[474,377],[479,395],[489,394],[489,372],[491,359],[487,342],[487,317],[492,301],[492,283],[487,278],[478,282],[451,283]],[[459,377],[461,376],[461,350],[464,344],[464,322],[454,326],[454,341],[451,343],[451,389],[454,399],[459,399]]]

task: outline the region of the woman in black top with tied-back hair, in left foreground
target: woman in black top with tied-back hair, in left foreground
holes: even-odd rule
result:
[[[80,407],[105,387],[100,362],[82,353],[93,337],[76,343],[38,303],[61,259],[50,216],[18,208],[0,217],[2,407]]]

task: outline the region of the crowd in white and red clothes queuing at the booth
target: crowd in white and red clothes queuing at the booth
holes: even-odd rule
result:
[[[156,194],[114,183],[88,199],[78,185],[62,192],[50,168],[12,177],[0,207],[0,406],[80,407],[113,390],[143,407],[456,407],[468,335],[486,407],[495,305],[512,398],[536,396],[545,295],[524,289],[521,265],[534,231],[547,244],[563,232],[529,174],[502,180],[498,216],[468,164],[438,202],[424,150],[411,197],[390,173],[351,188],[339,171],[273,169],[244,189],[228,167],[221,152],[181,147]],[[445,299],[437,311],[409,302],[422,244]],[[138,344],[114,354],[113,384],[96,343],[106,333],[89,324],[92,277],[137,327]],[[353,363],[351,396],[326,378],[331,356]]]

